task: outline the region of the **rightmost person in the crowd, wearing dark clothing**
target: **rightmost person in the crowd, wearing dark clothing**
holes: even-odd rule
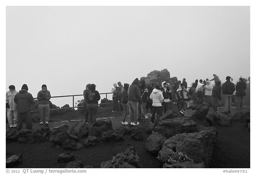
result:
[[[236,84],[236,108],[243,108],[245,96],[246,82],[243,77],[239,78]]]

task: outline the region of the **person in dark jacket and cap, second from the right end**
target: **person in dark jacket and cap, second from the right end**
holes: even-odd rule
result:
[[[235,91],[235,85],[230,81],[231,77],[226,77],[226,82],[222,85],[222,93],[224,94],[225,111],[222,113],[231,112],[232,94]]]

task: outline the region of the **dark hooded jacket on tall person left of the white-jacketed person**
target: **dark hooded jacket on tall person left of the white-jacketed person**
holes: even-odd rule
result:
[[[140,95],[140,82],[139,79],[136,78],[130,88],[128,90],[128,101],[138,101],[139,103],[143,103]]]

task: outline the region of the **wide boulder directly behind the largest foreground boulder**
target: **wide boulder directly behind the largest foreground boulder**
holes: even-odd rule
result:
[[[159,132],[167,139],[180,133],[192,133],[197,132],[197,124],[187,117],[176,117],[173,119],[167,119],[159,121],[156,124],[153,132]]]

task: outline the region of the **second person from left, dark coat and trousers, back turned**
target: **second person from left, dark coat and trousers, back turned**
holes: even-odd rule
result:
[[[31,104],[33,103],[33,97],[31,93],[28,93],[28,85],[24,84],[21,87],[19,93],[14,97],[14,102],[17,104],[18,111],[18,128],[22,129],[22,122],[25,118],[26,128],[32,129],[32,118],[30,113]]]

